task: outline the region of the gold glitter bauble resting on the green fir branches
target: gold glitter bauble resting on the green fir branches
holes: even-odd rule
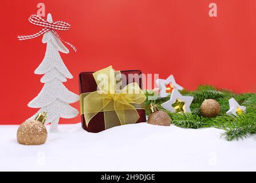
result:
[[[200,110],[203,117],[216,117],[220,112],[219,103],[213,99],[204,100]]]

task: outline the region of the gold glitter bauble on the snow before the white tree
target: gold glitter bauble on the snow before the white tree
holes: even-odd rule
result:
[[[23,122],[17,132],[17,140],[23,145],[40,145],[44,144],[47,139],[47,130],[44,122],[46,113],[40,113],[35,120]]]

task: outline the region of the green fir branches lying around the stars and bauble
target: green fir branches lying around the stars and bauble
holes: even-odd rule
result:
[[[180,128],[218,128],[225,130],[222,135],[228,141],[246,138],[251,134],[256,134],[256,94],[243,93],[236,94],[226,89],[216,89],[211,85],[199,85],[195,91],[182,90],[180,93],[183,96],[193,96],[194,101],[190,108],[192,113],[170,113],[164,110],[161,106],[170,97],[159,98],[158,94],[153,91],[145,91],[147,100],[145,101],[146,113],[150,114],[149,106],[154,104],[159,110],[167,112],[172,124]],[[205,118],[200,114],[200,106],[206,99],[214,99],[219,102],[220,114],[215,118]],[[229,100],[235,98],[240,105],[246,106],[246,113],[238,116],[227,116],[226,112],[229,110]],[[177,105],[180,105],[177,103]]]

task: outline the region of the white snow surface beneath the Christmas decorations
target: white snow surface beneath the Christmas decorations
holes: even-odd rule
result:
[[[215,128],[141,123],[88,133],[80,123],[59,125],[38,146],[18,144],[17,129],[0,125],[0,171],[256,170],[256,136],[229,142]]]

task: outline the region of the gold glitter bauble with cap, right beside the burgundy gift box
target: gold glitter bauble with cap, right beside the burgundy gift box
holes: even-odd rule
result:
[[[160,125],[160,126],[170,126],[171,118],[166,112],[158,110],[156,106],[151,105],[151,114],[148,117],[148,124]]]

